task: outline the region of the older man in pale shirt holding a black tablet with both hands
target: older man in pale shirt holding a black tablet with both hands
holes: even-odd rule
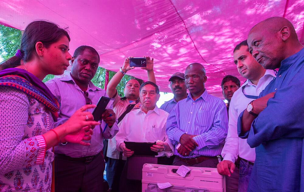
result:
[[[156,106],[160,94],[159,89],[153,82],[147,81],[140,86],[140,102],[142,106],[140,109],[134,110],[126,114],[123,118],[119,132],[116,134],[116,148],[119,151],[123,151],[123,155],[126,157],[131,157],[134,151],[126,148],[124,141],[137,141],[137,142],[154,142],[150,150],[157,152],[156,157],[170,157],[173,155],[174,146],[169,141],[166,135],[166,122],[169,113]],[[133,161],[138,160],[142,163],[142,157],[133,158]],[[129,161],[128,159],[127,161]],[[146,162],[149,163],[149,162]],[[159,163],[159,161],[158,161]],[[133,164],[137,164],[133,163]],[[126,163],[125,168],[127,169],[128,163]],[[141,170],[140,170],[141,171]],[[134,181],[126,180],[126,172],[123,171],[121,178],[121,186],[125,187],[124,184],[132,187],[131,191],[141,190],[141,180]],[[123,182],[124,181],[124,182]],[[126,186],[128,187],[128,186]],[[124,191],[128,191],[124,188]]]

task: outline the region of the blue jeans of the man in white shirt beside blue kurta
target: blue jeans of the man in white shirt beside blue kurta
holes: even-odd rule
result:
[[[238,192],[247,191],[252,168],[253,168],[253,165],[250,165],[248,161],[246,162],[243,159],[241,159]]]

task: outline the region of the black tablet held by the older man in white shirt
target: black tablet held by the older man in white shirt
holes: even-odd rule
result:
[[[155,156],[158,155],[157,152],[151,151],[152,145],[156,145],[156,141],[154,142],[131,142],[131,141],[124,141],[126,144],[126,148],[134,151],[133,155],[139,156]]]

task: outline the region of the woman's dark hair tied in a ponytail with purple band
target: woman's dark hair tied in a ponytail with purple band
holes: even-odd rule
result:
[[[49,21],[33,21],[25,28],[20,44],[18,57],[15,55],[0,63],[0,69],[12,68],[23,62],[29,61],[36,53],[36,43],[42,42],[43,46],[49,48],[52,43],[57,42],[62,36],[66,36],[71,41],[66,29],[60,28],[57,24]],[[17,50],[16,50],[17,51]]]

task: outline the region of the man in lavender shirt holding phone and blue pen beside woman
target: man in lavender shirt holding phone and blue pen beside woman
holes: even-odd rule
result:
[[[105,90],[91,82],[98,63],[99,55],[94,48],[80,46],[74,52],[71,73],[46,83],[61,102],[55,127],[64,123],[81,106],[96,104],[101,96],[107,97]],[[102,141],[112,138],[117,132],[116,115],[108,109],[102,114],[101,125],[93,129],[89,146],[72,143],[56,146],[55,191],[103,191],[105,161],[101,154]]]

